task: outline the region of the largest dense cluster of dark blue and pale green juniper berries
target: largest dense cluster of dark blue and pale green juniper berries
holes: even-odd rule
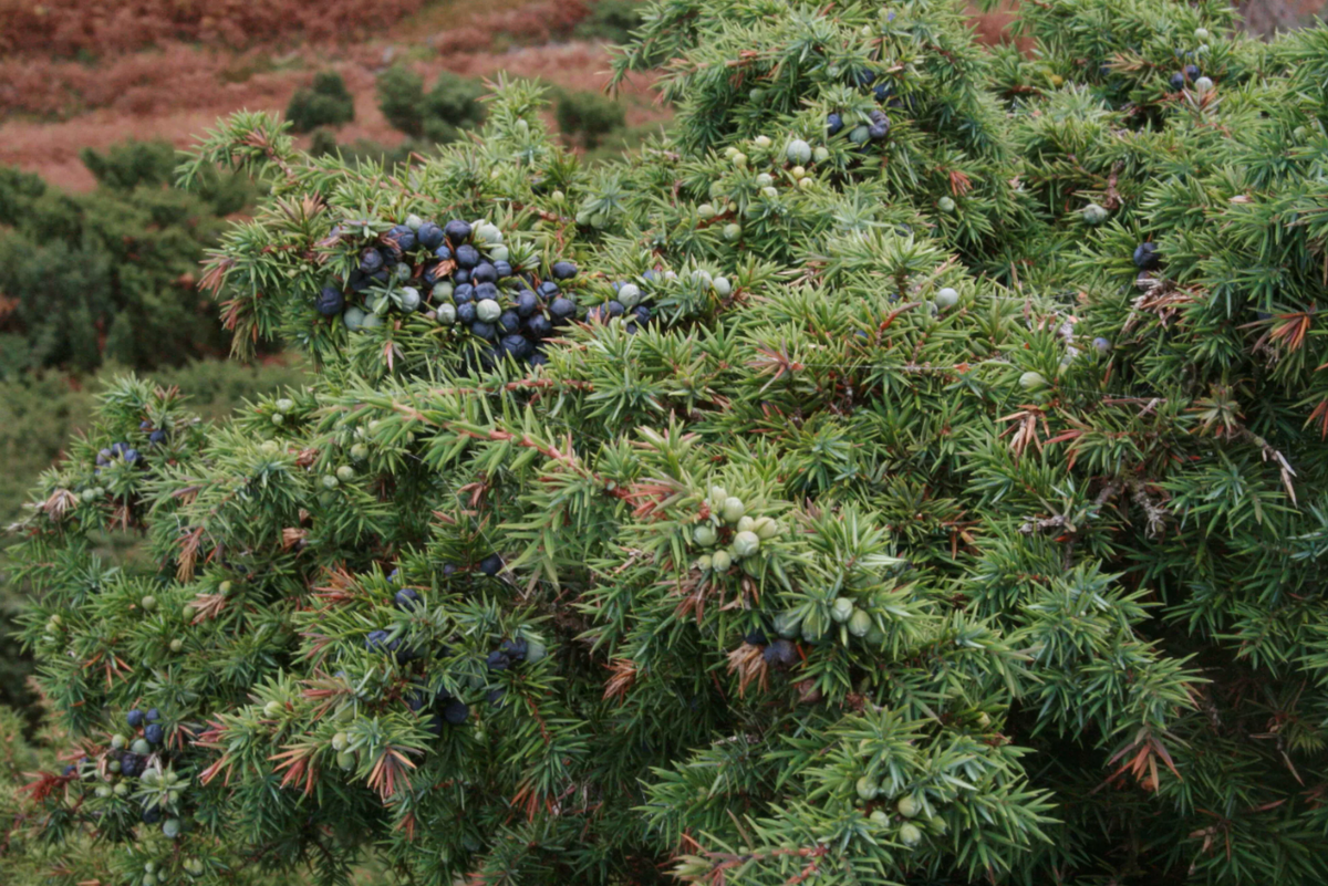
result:
[[[544,342],[576,317],[575,297],[563,286],[578,268],[555,261],[540,280],[510,259],[502,231],[485,220],[440,227],[410,216],[363,248],[345,285],[324,286],[316,308],[340,316],[352,332],[380,326],[389,310],[422,312],[485,342],[481,358],[489,365],[511,357],[540,366]],[[363,304],[347,305],[347,289]]]

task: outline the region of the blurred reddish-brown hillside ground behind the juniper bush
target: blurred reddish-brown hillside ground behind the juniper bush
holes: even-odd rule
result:
[[[1011,0],[1013,3],[1015,0]],[[1250,0],[1258,24],[1284,25],[1325,0]],[[373,8],[372,19],[363,9]],[[0,163],[74,190],[93,186],[78,150],[126,138],[178,146],[239,109],[282,111],[312,72],[333,68],[356,98],[340,141],[400,141],[378,113],[374,74],[408,60],[491,77],[507,72],[558,86],[604,85],[608,50],[567,41],[583,0],[0,0]],[[979,37],[1008,38],[1009,13],[975,15]],[[377,28],[377,31],[374,31]],[[182,42],[182,41],[190,42]],[[8,42],[8,45],[5,45]],[[105,54],[94,62],[50,53]],[[629,125],[664,121],[649,78],[624,92]]]

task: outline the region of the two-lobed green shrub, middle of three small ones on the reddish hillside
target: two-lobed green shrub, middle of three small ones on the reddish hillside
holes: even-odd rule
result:
[[[454,142],[462,130],[474,129],[485,118],[479,102],[483,88],[448,72],[438,74],[426,94],[420,74],[396,65],[378,74],[377,90],[378,109],[392,127],[426,142]]]

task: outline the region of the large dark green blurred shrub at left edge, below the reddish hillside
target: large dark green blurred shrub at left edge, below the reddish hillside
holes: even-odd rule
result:
[[[216,305],[198,263],[223,216],[254,198],[244,176],[207,174],[195,191],[167,184],[169,145],[82,151],[89,194],[0,175],[0,378],[46,367],[135,369],[224,354]]]

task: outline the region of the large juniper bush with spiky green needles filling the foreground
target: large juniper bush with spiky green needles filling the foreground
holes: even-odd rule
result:
[[[206,269],[234,341],[317,373],[215,427],[126,379],[42,477],[9,565],[88,776],[4,845],[104,883],[1324,882],[1328,29],[1046,0],[1025,56],[931,0],[647,9],[614,78],[667,70],[676,119],[622,162],[507,81],[409,171],[258,114],[197,147],[186,183],[270,194]],[[530,362],[430,316],[459,271],[355,289],[412,215],[469,267],[501,232]],[[612,283],[636,334],[587,321]],[[174,798],[155,752],[101,765],[150,707]]]

